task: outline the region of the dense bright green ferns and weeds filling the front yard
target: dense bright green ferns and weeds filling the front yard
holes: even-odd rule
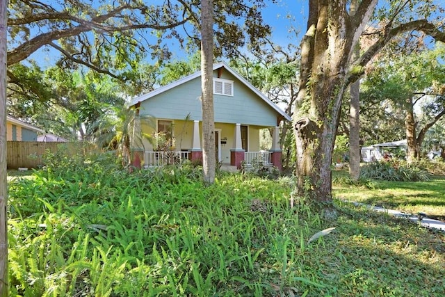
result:
[[[76,158],[10,184],[13,294],[262,296],[316,287],[298,267],[324,226],[309,209],[289,209],[289,178],[221,175],[204,186],[192,166],[130,174],[111,155]]]

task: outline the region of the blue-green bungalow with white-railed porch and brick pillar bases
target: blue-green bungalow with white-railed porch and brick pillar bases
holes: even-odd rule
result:
[[[151,116],[154,124],[136,124],[137,134],[163,136],[168,139],[171,155],[176,160],[202,160],[201,72],[196,72],[166,86],[131,100],[139,118]],[[213,103],[217,161],[241,167],[260,159],[264,165],[281,168],[282,150],[279,127],[291,120],[268,97],[252,86],[226,63],[213,65]],[[273,143],[268,151],[260,151],[260,130],[273,128]],[[165,161],[159,139],[133,143],[133,153],[144,166]],[[164,139],[165,141],[165,139]]]

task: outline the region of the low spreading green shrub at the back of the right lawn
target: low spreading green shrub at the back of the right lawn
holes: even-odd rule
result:
[[[403,161],[381,161],[362,166],[360,177],[399,182],[426,181],[430,174],[419,166],[407,164]]]

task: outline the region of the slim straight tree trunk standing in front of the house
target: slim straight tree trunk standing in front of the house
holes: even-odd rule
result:
[[[213,0],[201,2],[202,169],[204,182],[216,174],[215,117],[213,111]]]

